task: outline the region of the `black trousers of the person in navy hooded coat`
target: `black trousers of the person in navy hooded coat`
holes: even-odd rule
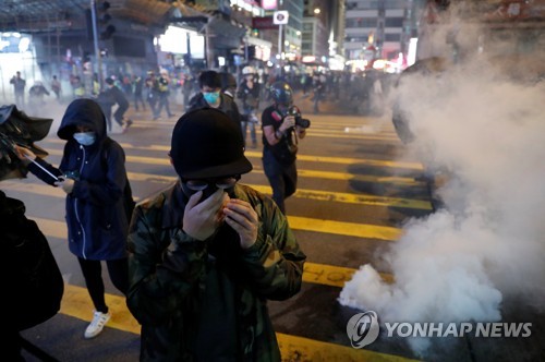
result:
[[[105,286],[102,280],[102,265],[100,261],[89,261],[78,257],[80,266],[82,267],[85,285],[89,292],[95,310],[102,313],[108,313],[108,306],[105,300]],[[126,257],[106,261],[108,275],[113,286],[123,294],[129,290],[129,263]]]

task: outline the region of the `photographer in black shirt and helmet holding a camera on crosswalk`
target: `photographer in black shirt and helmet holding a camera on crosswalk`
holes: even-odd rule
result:
[[[293,90],[288,83],[274,83],[270,95],[275,102],[262,113],[263,169],[272,188],[272,200],[286,214],[284,200],[295,193],[298,185],[298,143],[304,138],[310,121],[302,119],[293,106]]]

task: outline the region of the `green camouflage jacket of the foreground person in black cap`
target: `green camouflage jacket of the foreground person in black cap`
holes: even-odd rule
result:
[[[136,207],[126,303],[142,361],[280,361],[266,301],[299,292],[306,256],[270,198],[242,184],[234,194],[259,217],[247,250],[227,224],[206,241],[185,234],[179,183]]]

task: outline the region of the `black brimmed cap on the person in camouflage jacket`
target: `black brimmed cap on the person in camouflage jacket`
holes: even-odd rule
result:
[[[182,179],[219,178],[252,171],[252,164],[244,157],[240,126],[214,108],[183,114],[174,125],[170,147],[174,169]]]

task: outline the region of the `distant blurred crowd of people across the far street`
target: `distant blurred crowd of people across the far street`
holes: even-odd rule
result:
[[[62,80],[52,74],[49,81],[37,80],[31,86],[26,84],[21,72],[16,72],[10,83],[13,86],[14,104],[20,109],[33,112],[51,100],[64,105],[75,98],[98,97],[108,89],[108,80],[112,80],[135,112],[150,110],[152,119],[159,120],[161,117],[167,119],[174,117],[175,108],[179,108],[177,106],[184,111],[190,108],[191,98],[201,92],[198,84],[201,72],[184,70],[173,73],[160,69],[160,71],[149,70],[145,74],[118,73],[108,75],[102,84],[97,74],[93,76],[72,74],[69,79],[63,76]],[[238,70],[222,69],[219,73],[222,86],[228,79],[232,81],[229,86],[231,90],[223,88],[222,90],[227,90],[227,94],[238,102],[244,116],[242,125],[249,129],[251,134],[254,133],[255,123],[252,121],[254,120],[252,114],[255,113],[252,109],[259,107],[259,100],[264,106],[263,100],[271,99],[270,87],[277,81],[287,82],[295,93],[301,92],[308,98],[314,113],[320,112],[320,105],[332,102],[342,105],[344,112],[380,114],[384,110],[384,98],[395,79],[373,69],[355,73],[314,70],[278,74],[271,70],[245,65]],[[244,93],[244,97],[240,97],[241,92]]]

